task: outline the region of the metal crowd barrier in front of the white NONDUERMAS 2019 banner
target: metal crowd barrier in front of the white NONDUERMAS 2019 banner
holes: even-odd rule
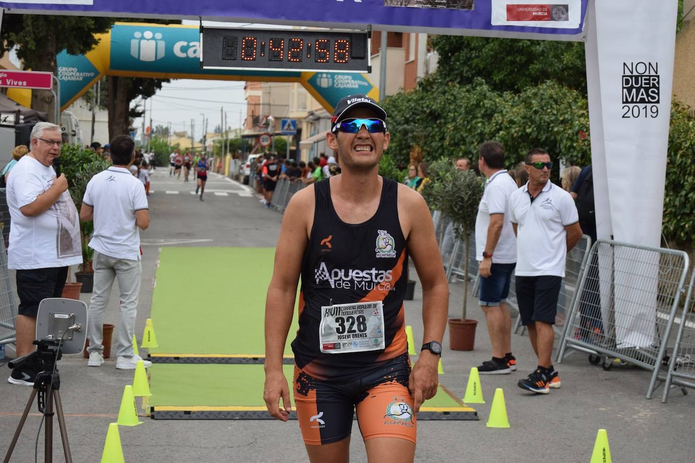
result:
[[[572,310],[560,339],[608,370],[614,359],[652,371],[651,398],[676,318],[689,266],[683,251],[600,239],[591,247]],[[676,378],[671,375],[672,381]]]

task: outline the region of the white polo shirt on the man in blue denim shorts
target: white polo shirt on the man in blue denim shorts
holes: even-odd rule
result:
[[[509,221],[507,202],[509,196],[518,188],[514,179],[506,170],[495,172],[485,183],[485,192],[478,205],[478,214],[475,219],[475,258],[482,260],[482,251],[485,251],[487,242],[487,229],[490,225],[492,214],[505,214],[502,219],[502,233],[492,253],[493,264],[514,264],[516,262],[516,237],[512,222]]]

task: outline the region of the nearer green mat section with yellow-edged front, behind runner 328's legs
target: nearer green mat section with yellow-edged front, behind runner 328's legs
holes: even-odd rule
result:
[[[283,370],[292,391],[293,366],[284,365]],[[149,405],[155,419],[269,418],[263,402],[263,365],[153,364],[149,374]],[[294,405],[292,396],[291,400]],[[477,413],[440,388],[418,417],[477,419]]]

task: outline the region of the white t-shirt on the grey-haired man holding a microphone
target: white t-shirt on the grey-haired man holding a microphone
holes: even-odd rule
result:
[[[56,172],[35,158],[22,156],[8,179],[7,203],[10,208],[10,269],[45,269],[82,263],[80,224],[70,193],[36,217],[26,217],[19,208],[33,203],[53,186]]]

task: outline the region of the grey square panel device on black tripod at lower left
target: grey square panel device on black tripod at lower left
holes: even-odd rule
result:
[[[38,409],[46,419],[44,432],[44,462],[53,461],[53,415],[54,403],[60,426],[60,437],[63,440],[65,461],[72,463],[70,444],[67,441],[65,415],[63,404],[60,402],[60,375],[57,362],[63,353],[80,353],[85,346],[87,337],[87,305],[82,301],[64,298],[46,298],[39,304],[36,314],[36,339],[33,342],[36,350],[23,357],[18,357],[8,363],[11,369],[21,367],[26,362],[40,366],[40,373],[34,380],[31,396],[26,403],[22,418],[10,443],[5,462],[10,461],[19,434],[22,432],[24,421],[31,410],[31,404],[38,394]]]

